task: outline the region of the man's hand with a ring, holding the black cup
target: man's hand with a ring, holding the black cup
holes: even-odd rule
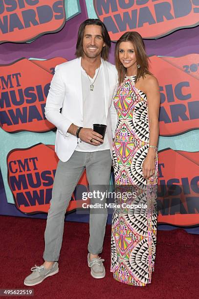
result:
[[[82,141],[94,146],[99,146],[104,142],[102,137],[103,137],[102,135],[93,131],[93,129],[91,128],[82,128],[81,131],[79,132],[79,138]]]

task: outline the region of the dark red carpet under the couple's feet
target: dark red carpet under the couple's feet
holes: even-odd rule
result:
[[[0,216],[0,288],[28,288],[23,285],[24,278],[35,263],[43,263],[45,222],[42,219]],[[87,266],[88,224],[66,222],[59,273],[34,286],[34,298],[199,298],[198,235],[179,229],[158,231],[152,284],[142,288],[112,278],[110,235],[109,225],[102,255],[106,278],[94,279]]]

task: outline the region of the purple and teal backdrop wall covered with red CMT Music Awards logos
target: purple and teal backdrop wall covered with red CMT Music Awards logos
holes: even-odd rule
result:
[[[159,228],[199,233],[199,0],[0,0],[0,214],[46,218],[58,158],[45,101],[87,18],[106,24],[111,63],[125,31],[144,38],[161,91]],[[81,204],[75,191],[67,220],[88,221]]]

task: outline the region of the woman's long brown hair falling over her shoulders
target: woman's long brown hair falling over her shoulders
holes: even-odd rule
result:
[[[133,43],[137,64],[140,65],[140,68],[137,68],[135,83],[140,77],[144,78],[145,74],[152,74],[149,71],[149,58],[145,52],[145,44],[141,35],[136,31],[128,31],[120,37],[115,45],[115,66],[118,72],[119,85],[121,85],[124,81],[127,71],[126,67],[124,67],[124,65],[119,60],[119,46],[122,42]]]

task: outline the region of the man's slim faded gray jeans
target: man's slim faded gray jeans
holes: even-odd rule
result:
[[[93,152],[74,151],[66,162],[59,161],[55,174],[52,199],[45,228],[45,261],[58,261],[62,246],[66,209],[72,193],[85,170],[89,191],[108,191],[111,173],[111,152],[109,149]],[[96,190],[97,189],[97,190]],[[100,202],[91,198],[90,204]],[[90,209],[88,252],[102,252],[107,222],[107,210]]]

